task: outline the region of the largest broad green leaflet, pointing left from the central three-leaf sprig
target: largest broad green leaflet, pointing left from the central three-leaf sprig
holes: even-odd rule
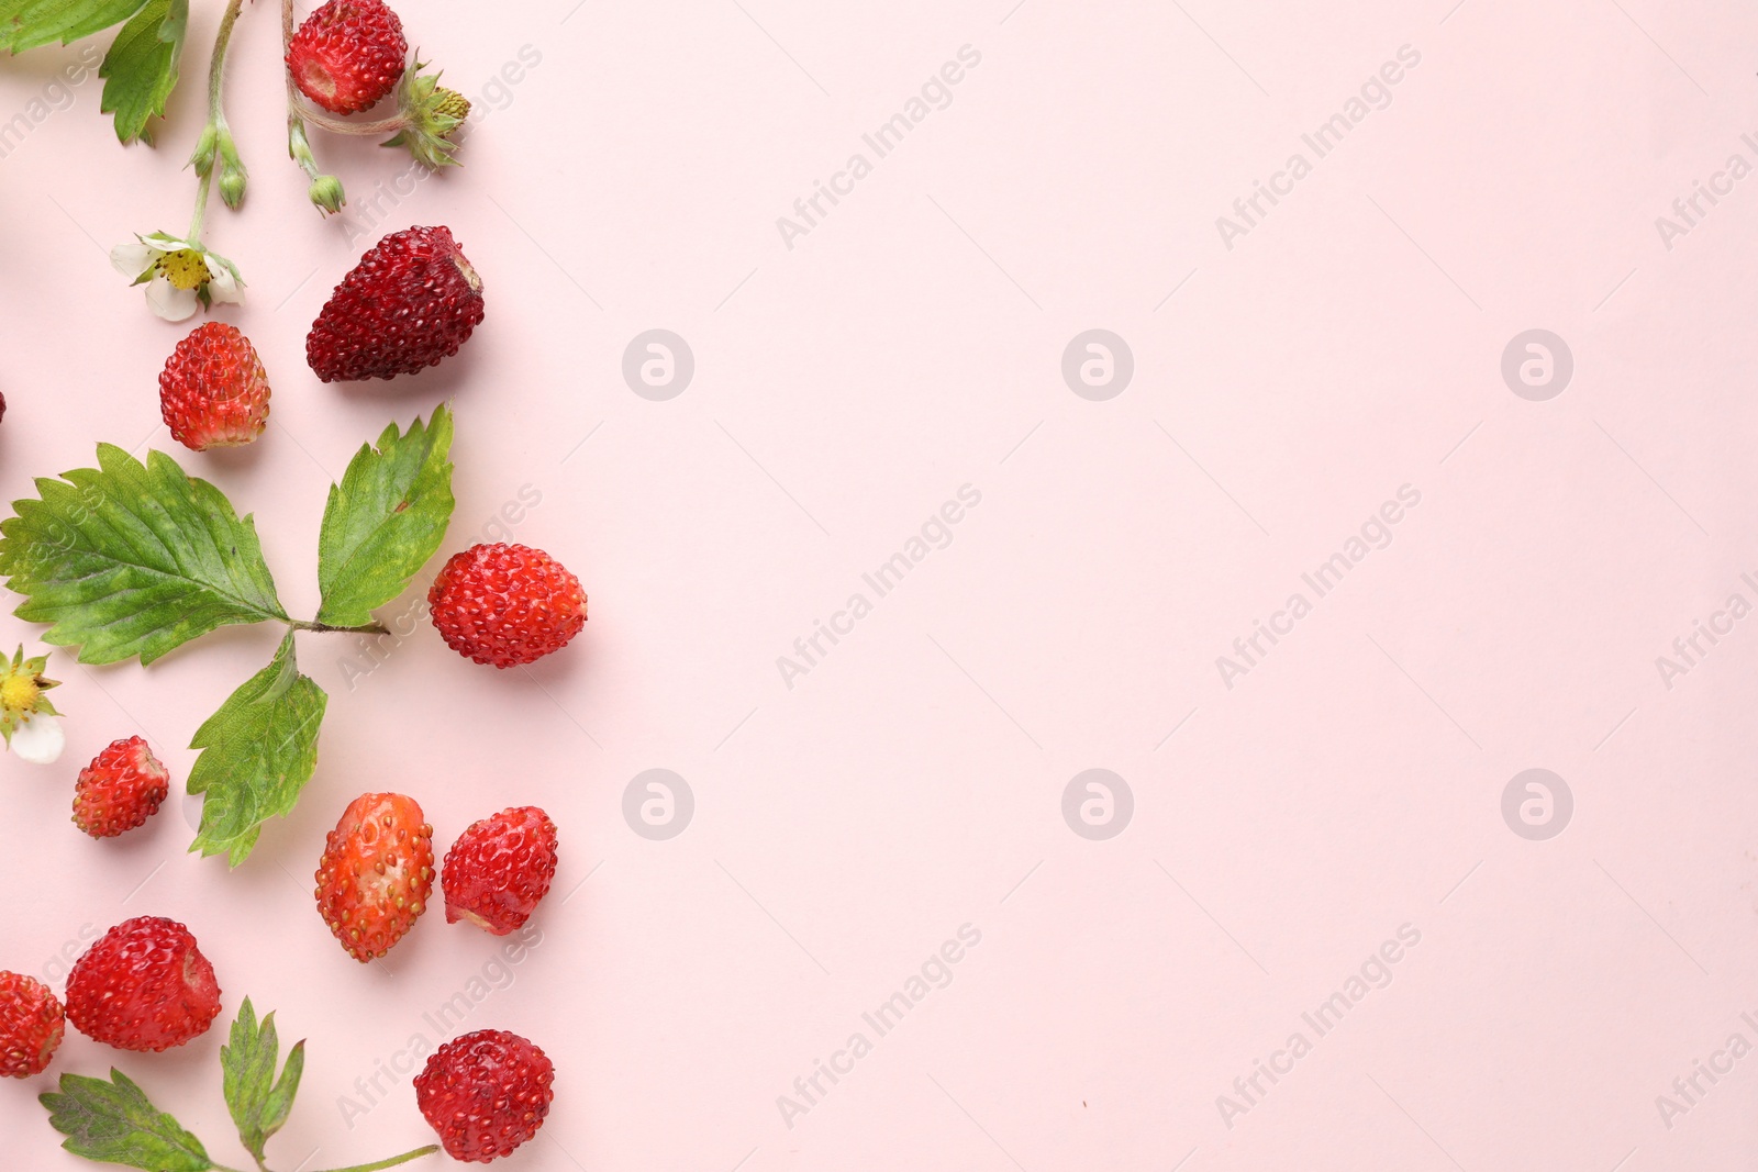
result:
[[[149,664],[214,627],[287,622],[250,517],[162,452],[142,466],[98,445],[98,467],[39,478],[0,522],[0,575],[18,617],[79,661]]]

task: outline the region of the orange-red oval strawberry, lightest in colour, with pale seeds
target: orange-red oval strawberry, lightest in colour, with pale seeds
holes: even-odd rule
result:
[[[341,814],[318,861],[318,914],[362,965],[383,956],[427,910],[434,828],[403,794],[360,794]]]

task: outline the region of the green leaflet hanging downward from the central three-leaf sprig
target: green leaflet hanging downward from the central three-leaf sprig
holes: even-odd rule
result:
[[[250,857],[262,824],[292,812],[318,766],[318,727],[329,696],[299,675],[294,633],[274,661],[244,682],[195,729],[200,749],[190,792],[202,794],[202,826],[190,850],[225,854],[237,866]]]

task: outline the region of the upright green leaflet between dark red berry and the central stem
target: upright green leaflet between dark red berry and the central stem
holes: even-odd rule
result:
[[[360,445],[339,485],[331,485],[318,538],[318,622],[355,627],[403,594],[445,539],[452,520],[452,413],[392,423],[378,448]]]

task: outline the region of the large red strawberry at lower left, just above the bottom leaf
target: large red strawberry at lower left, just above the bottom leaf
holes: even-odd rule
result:
[[[160,915],[116,924],[67,975],[67,1019],[116,1049],[183,1045],[218,1016],[214,966],[188,928]]]

